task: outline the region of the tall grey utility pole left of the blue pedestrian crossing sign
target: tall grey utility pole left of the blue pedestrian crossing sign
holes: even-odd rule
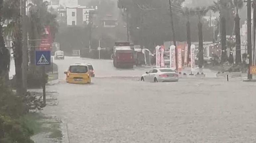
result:
[[[26,30],[26,0],[21,0],[21,16],[22,16],[22,81],[23,88],[27,92],[27,71],[28,71],[28,45]]]

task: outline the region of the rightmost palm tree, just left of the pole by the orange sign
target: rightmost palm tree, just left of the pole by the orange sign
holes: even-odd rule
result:
[[[235,35],[236,35],[236,64],[242,63],[241,59],[241,37],[240,37],[240,18],[238,11],[243,7],[243,0],[233,0],[235,6]]]

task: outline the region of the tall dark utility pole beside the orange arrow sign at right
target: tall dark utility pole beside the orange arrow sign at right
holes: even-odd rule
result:
[[[248,65],[248,76],[247,78],[252,79],[252,75],[250,74],[250,68],[252,65],[252,22],[251,22],[251,0],[247,0],[247,58],[249,58]]]

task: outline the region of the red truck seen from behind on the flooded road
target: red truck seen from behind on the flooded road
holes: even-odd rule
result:
[[[134,49],[129,42],[115,42],[113,65],[116,68],[133,68]]]

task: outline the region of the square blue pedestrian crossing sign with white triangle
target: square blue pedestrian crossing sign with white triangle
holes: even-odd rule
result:
[[[36,65],[51,65],[51,51],[36,51]]]

